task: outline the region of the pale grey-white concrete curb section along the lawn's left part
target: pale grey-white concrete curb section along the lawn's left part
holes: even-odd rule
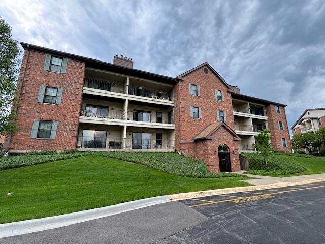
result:
[[[0,238],[55,229],[168,201],[170,201],[168,196],[159,196],[132,202],[120,203],[108,207],[72,212],[71,214],[66,215],[0,224]]]

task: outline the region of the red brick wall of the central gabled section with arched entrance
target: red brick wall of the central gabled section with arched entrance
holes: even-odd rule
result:
[[[209,73],[205,74],[203,72],[204,68],[209,69],[208,66],[203,66],[194,70],[185,75],[183,77],[184,81],[179,81],[174,87],[175,147],[192,157],[205,159],[211,170],[219,172],[219,161],[218,157],[215,157],[214,151],[218,150],[219,145],[227,144],[231,151],[237,153],[237,158],[231,156],[235,171],[238,169],[237,165],[239,165],[238,144],[233,140],[233,136],[229,132],[216,133],[218,137],[212,141],[188,143],[193,142],[193,138],[208,125],[218,121],[217,110],[226,111],[226,124],[235,131],[231,93],[228,92],[228,87],[212,70],[209,69]],[[200,86],[200,96],[189,94],[190,83]],[[215,99],[215,89],[223,91],[224,101]],[[190,117],[190,106],[201,107],[201,119]]]

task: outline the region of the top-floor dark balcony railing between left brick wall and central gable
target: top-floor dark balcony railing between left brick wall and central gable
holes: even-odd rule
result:
[[[112,83],[99,79],[86,78],[87,87],[99,90],[107,90],[109,92],[124,93],[147,98],[174,101],[174,94],[159,90],[151,90],[144,87],[126,86],[124,84]]]

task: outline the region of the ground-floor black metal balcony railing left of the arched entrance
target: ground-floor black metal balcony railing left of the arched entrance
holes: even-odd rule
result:
[[[79,136],[77,148],[91,149],[174,149],[175,140]]]

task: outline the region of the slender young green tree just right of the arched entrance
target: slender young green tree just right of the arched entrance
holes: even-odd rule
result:
[[[256,143],[253,146],[259,151],[265,159],[265,171],[270,171],[268,167],[267,157],[273,153],[273,148],[270,144],[271,135],[269,129],[264,128],[259,131],[259,134],[255,136]]]

